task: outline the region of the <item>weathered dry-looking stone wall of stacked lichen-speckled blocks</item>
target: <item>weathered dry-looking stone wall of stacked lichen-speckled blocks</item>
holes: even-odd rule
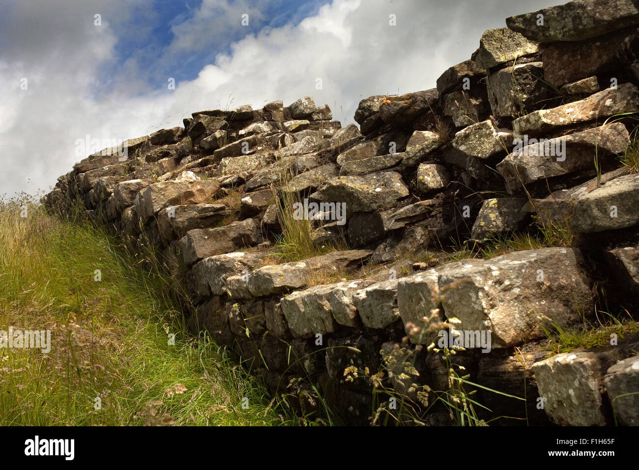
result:
[[[436,88],[362,100],[359,129],[312,97],[198,111],[90,155],[43,202],[158,253],[192,331],[303,412],[316,386],[369,423],[394,410],[374,385],[450,424],[424,411],[453,370],[528,398],[479,389],[480,418],[611,424],[639,391],[639,338],[546,357],[546,331],[594,318],[602,289],[609,313],[636,311],[639,174],[618,155],[639,161],[636,120],[619,119],[639,112],[639,12],[583,1],[507,24]],[[473,257],[451,256],[464,242]],[[634,396],[615,401],[622,424]]]

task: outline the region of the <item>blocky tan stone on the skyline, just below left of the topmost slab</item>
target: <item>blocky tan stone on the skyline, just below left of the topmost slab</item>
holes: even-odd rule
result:
[[[538,51],[539,43],[526,39],[512,29],[500,27],[489,29],[481,36],[475,62],[478,68],[488,69]]]

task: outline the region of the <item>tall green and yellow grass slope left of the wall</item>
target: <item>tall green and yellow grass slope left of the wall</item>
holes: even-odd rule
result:
[[[22,205],[0,207],[0,329],[50,330],[51,349],[0,351],[1,425],[299,423],[224,349],[187,334],[170,279],[88,223],[34,205],[22,218]]]

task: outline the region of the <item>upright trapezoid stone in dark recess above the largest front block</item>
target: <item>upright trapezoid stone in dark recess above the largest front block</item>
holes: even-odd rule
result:
[[[495,235],[521,228],[527,214],[521,210],[526,200],[500,198],[484,200],[475,224],[471,238],[473,240],[489,240]]]

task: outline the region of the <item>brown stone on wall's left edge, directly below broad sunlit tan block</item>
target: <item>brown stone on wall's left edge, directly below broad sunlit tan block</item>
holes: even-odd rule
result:
[[[169,206],[157,214],[158,229],[165,240],[181,239],[194,228],[209,228],[231,215],[224,204]]]

